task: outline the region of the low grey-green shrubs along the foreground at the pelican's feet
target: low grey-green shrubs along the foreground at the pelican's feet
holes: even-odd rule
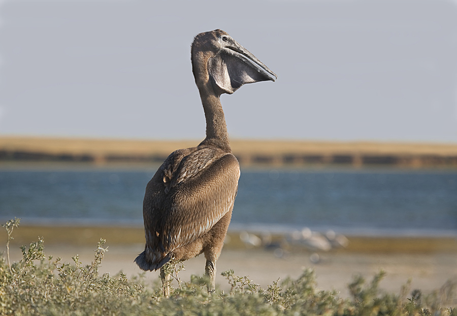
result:
[[[125,274],[100,275],[108,249],[101,239],[88,265],[78,256],[71,263],[46,257],[44,240],[22,246],[22,259],[9,262],[9,241],[19,219],[3,227],[8,234],[6,258],[0,257],[0,315],[457,315],[456,284],[423,294],[403,287],[399,294],[382,293],[379,272],[367,282],[358,276],[348,285],[351,297],[316,290],[315,274],[306,269],[297,279],[277,280],[267,289],[233,270],[222,272],[230,291],[208,294],[206,280],[191,276],[181,280],[180,262],[167,269],[177,287],[165,298],[159,280],[147,285],[144,274],[128,279]]]

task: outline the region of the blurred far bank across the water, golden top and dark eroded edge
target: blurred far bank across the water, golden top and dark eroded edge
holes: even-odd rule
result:
[[[161,163],[172,151],[198,144],[199,140],[0,137],[0,163]],[[234,139],[231,145],[242,166],[457,167],[457,144]]]

